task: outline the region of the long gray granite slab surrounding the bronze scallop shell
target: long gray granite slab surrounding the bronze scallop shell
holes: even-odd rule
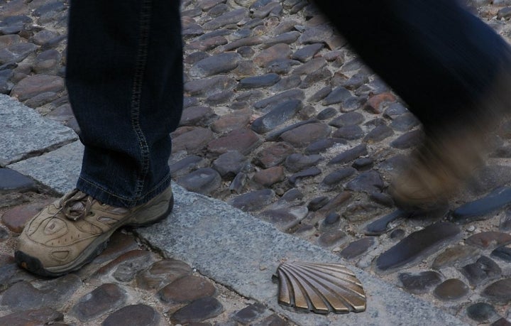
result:
[[[432,303],[416,298],[319,246],[282,233],[225,202],[175,187],[175,209],[164,222],[137,232],[153,248],[182,259],[248,298],[268,305],[299,325],[466,325]],[[282,261],[344,263],[363,284],[364,313],[315,315],[282,309],[272,275]]]

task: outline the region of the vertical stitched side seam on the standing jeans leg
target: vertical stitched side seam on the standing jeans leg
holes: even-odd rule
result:
[[[138,176],[136,184],[136,196],[140,197],[143,191],[145,178],[149,173],[149,146],[147,139],[143,134],[140,124],[141,98],[143,78],[148,59],[149,34],[150,34],[150,14],[152,11],[151,0],[144,0],[141,4],[140,28],[138,50],[136,56],[135,71],[133,72],[133,88],[131,92],[131,126],[138,139],[138,146],[141,150],[141,174]]]

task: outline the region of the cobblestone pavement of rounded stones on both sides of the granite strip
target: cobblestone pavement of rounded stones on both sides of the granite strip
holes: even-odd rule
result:
[[[511,1],[470,4],[510,39]],[[0,1],[0,92],[77,131],[62,80],[67,9],[62,0]],[[495,131],[498,149],[465,191],[408,216],[386,188],[421,137],[418,121],[308,1],[185,0],[182,23],[185,111],[169,161],[177,183],[469,325],[511,325],[511,124]],[[288,324],[129,230],[79,273],[20,271],[16,234],[58,195],[0,173],[0,325],[118,325],[133,312],[151,325]]]

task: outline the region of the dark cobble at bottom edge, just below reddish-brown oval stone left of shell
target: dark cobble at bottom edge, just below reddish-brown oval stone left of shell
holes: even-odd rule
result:
[[[202,322],[222,313],[224,306],[215,298],[202,298],[195,300],[189,305],[177,310],[170,316],[170,320],[176,324],[189,322]]]

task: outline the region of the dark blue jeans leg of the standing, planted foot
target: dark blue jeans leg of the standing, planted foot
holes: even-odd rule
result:
[[[85,151],[77,188],[133,207],[170,184],[182,112],[180,1],[72,0],[66,83]]]

